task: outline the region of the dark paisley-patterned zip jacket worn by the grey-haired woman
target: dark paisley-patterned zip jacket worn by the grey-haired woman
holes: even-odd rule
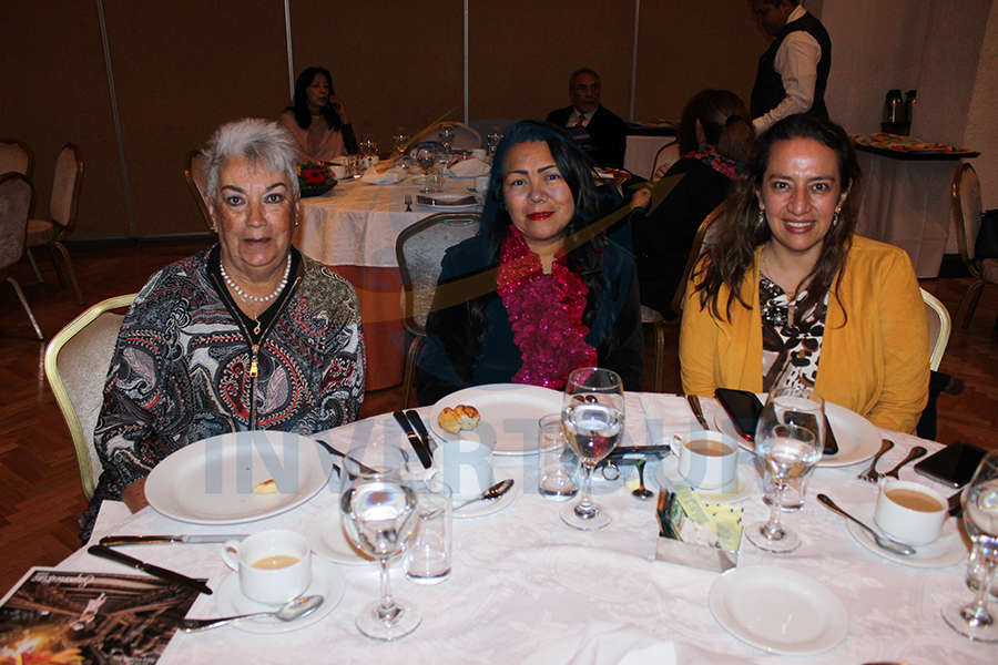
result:
[[[251,429],[309,434],[360,410],[364,331],[350,284],[302,256],[254,352],[210,253],[153,275],[122,321],[94,431],[103,472],[83,533],[103,499],[189,443]]]

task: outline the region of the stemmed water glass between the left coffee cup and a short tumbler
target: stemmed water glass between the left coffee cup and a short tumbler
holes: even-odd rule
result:
[[[344,460],[342,481],[346,488],[339,495],[339,509],[346,518],[347,535],[361,552],[378,560],[381,579],[381,596],[357,616],[357,630],[375,640],[408,635],[422,617],[391,595],[388,560],[403,551],[419,523],[416,493],[398,469],[365,472],[350,458]]]

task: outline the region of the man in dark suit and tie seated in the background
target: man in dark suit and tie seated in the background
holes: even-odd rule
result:
[[[623,166],[627,124],[600,105],[600,75],[589,68],[572,72],[564,109],[551,111],[548,122],[567,127],[572,139],[600,166]]]

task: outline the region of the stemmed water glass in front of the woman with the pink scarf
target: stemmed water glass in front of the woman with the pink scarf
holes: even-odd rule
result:
[[[599,367],[573,370],[564,385],[561,426],[569,444],[582,460],[585,479],[582,498],[561,511],[562,521],[582,531],[610,524],[610,515],[592,502],[592,470],[617,448],[624,429],[623,382],[620,376]]]

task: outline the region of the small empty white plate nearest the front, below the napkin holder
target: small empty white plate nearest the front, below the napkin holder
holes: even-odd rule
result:
[[[828,651],[845,640],[849,628],[838,596],[786,567],[731,569],[714,580],[709,602],[725,631],[774,654]]]

